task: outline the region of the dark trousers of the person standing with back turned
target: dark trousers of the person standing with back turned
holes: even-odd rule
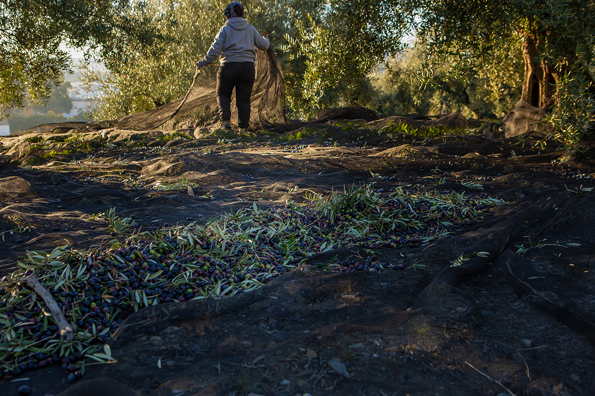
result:
[[[231,92],[236,89],[237,126],[248,128],[250,96],[256,70],[253,62],[226,62],[217,71],[217,104],[222,122],[231,121]]]

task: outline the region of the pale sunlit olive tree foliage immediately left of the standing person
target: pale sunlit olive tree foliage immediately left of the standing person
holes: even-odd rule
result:
[[[150,53],[124,46],[126,64],[106,64],[108,71],[84,68],[83,81],[101,83],[104,96],[94,117],[99,120],[154,109],[184,95],[192,83],[195,62],[206,53],[224,23],[226,0],[150,0],[151,27],[168,40]],[[209,76],[212,68],[203,70]]]

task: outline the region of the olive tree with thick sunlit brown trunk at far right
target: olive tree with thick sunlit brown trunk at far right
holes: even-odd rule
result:
[[[453,71],[471,74],[516,45],[524,62],[521,99],[550,112],[556,136],[571,150],[595,121],[595,2],[552,0],[413,0],[418,39],[428,48],[422,79],[454,59]]]

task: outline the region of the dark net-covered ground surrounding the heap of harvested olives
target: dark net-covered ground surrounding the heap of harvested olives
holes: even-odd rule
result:
[[[4,139],[2,275],[27,250],[109,246],[121,236],[89,219],[109,207],[146,230],[253,202],[308,203],[306,189],[349,184],[487,192],[506,203],[450,238],[380,250],[378,260],[405,271],[317,268],[367,254],[356,248],[314,256],[258,291],[189,304],[131,339],[115,337],[117,363],[89,365],[74,384],[54,365],[3,378],[0,394],[24,384],[32,395],[595,394],[592,151],[555,164],[562,153],[531,139],[421,139],[333,122],[276,142],[184,133],[192,131]],[[157,181],[195,184],[147,188]],[[473,252],[489,254],[450,266]]]

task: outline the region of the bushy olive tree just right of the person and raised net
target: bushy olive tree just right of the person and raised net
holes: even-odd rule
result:
[[[328,0],[318,18],[297,21],[283,50],[303,64],[289,98],[303,115],[336,105],[369,105],[369,73],[406,47],[413,14],[392,0]]]

